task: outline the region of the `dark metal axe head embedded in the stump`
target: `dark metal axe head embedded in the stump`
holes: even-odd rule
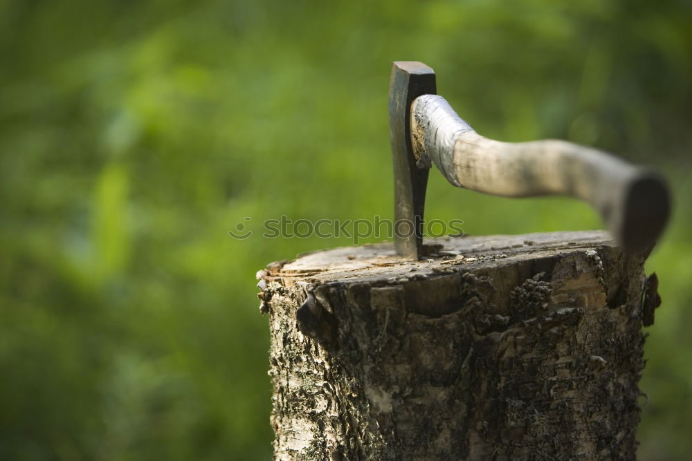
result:
[[[422,62],[397,61],[389,94],[390,140],[394,160],[394,245],[397,254],[417,260],[423,251],[423,211],[430,164],[417,165],[411,144],[411,104],[434,95],[435,71]]]

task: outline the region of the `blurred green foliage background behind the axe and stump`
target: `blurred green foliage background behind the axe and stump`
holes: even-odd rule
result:
[[[262,220],[392,217],[397,59],[434,67],[484,135],[671,180],[639,456],[686,459],[691,23],[689,0],[0,0],[0,459],[271,457],[255,271],[350,241],[264,239]],[[601,225],[439,174],[426,212],[469,234]]]

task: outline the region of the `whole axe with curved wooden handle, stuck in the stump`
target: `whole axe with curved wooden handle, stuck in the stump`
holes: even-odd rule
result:
[[[615,241],[630,252],[650,248],[668,220],[670,196],[659,174],[566,141],[510,143],[484,138],[436,95],[435,72],[421,62],[394,62],[389,117],[394,244],[405,258],[417,260],[423,254],[423,214],[432,164],[453,185],[484,194],[566,195],[584,200],[599,211]]]

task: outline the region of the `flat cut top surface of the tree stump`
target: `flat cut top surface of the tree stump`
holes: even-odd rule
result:
[[[526,261],[597,247],[616,247],[608,232],[543,232],[520,235],[429,238],[429,256],[407,261],[397,256],[391,242],[338,247],[300,254],[293,261],[272,263],[267,275],[291,279],[329,282],[349,279],[381,279],[429,272],[475,270],[500,261]]]

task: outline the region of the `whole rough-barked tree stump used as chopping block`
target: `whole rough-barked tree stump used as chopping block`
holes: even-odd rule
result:
[[[646,255],[600,231],[426,243],[258,274],[275,459],[635,459]]]

